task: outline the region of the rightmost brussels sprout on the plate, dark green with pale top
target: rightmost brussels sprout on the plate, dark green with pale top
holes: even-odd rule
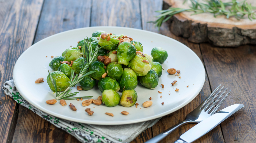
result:
[[[151,55],[154,58],[154,62],[159,62],[160,64],[164,63],[164,61],[168,57],[167,52],[161,47],[153,48],[151,51]]]

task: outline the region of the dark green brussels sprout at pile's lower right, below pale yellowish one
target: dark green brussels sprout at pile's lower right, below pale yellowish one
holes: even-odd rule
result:
[[[158,85],[158,80],[158,75],[153,69],[151,69],[147,75],[140,77],[141,85],[149,89],[156,88]]]

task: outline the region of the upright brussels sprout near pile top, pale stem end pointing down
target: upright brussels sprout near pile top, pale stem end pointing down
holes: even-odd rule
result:
[[[117,47],[117,59],[119,64],[128,65],[136,55],[136,49],[130,42],[122,42]]]

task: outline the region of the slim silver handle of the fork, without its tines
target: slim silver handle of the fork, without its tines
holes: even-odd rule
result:
[[[185,124],[191,123],[191,121],[182,121],[179,122],[178,124],[168,128],[167,130],[165,130],[164,132],[160,133],[159,135],[153,137],[152,139],[146,141],[145,143],[152,143],[152,142],[159,142],[161,141],[163,138],[165,138],[168,134],[170,134],[171,132],[173,132],[174,130],[176,130],[177,128],[179,128],[180,126],[183,126]]]

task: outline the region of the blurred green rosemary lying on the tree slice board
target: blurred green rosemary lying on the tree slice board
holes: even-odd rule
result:
[[[185,0],[184,3],[186,1],[187,0]],[[207,4],[200,3],[199,0],[198,1],[190,0],[190,1],[192,6],[189,9],[170,7],[169,9],[166,9],[166,10],[155,11],[161,14],[156,16],[158,18],[156,21],[149,21],[149,22],[153,22],[154,24],[156,24],[155,26],[157,26],[159,30],[163,22],[166,22],[173,15],[183,11],[195,12],[192,15],[209,12],[209,13],[213,13],[215,18],[218,15],[225,15],[227,19],[230,17],[235,17],[237,20],[240,20],[244,18],[245,15],[248,15],[248,19],[250,20],[256,19],[255,18],[256,15],[254,11],[256,7],[251,6],[251,4],[246,3],[246,1],[237,2],[236,0],[232,0],[231,2],[223,3],[220,0],[203,0],[207,2]]]

